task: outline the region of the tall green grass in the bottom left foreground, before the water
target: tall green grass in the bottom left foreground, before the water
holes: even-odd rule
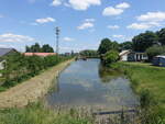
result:
[[[88,117],[77,117],[73,113],[58,113],[33,103],[23,109],[0,110],[0,124],[91,124]]]

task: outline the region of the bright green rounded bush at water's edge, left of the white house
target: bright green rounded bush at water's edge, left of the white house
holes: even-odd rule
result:
[[[116,63],[118,59],[119,59],[119,53],[117,50],[109,50],[103,55],[102,64],[110,65],[112,63]]]

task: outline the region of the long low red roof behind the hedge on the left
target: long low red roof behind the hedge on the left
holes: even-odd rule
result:
[[[25,56],[41,56],[41,57],[46,57],[46,56],[53,56],[56,55],[56,53],[24,53]]]

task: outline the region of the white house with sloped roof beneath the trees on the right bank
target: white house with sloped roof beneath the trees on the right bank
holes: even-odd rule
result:
[[[122,50],[120,54],[121,61],[143,61],[147,60],[145,53],[132,52],[132,50]]]

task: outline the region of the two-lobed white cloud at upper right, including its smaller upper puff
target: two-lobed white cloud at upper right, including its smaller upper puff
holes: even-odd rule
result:
[[[111,16],[111,15],[119,15],[124,12],[125,9],[130,8],[130,4],[127,2],[117,4],[116,7],[108,7],[103,10],[102,15]]]

